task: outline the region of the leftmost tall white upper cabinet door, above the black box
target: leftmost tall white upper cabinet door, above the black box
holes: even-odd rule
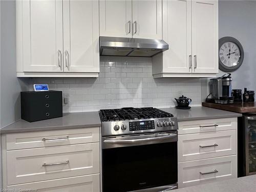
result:
[[[22,1],[24,72],[62,71],[62,1]]]

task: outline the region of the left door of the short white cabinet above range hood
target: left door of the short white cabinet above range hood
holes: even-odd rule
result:
[[[132,37],[132,0],[99,1],[100,36]]]

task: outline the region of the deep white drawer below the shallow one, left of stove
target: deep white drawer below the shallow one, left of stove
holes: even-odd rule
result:
[[[7,151],[6,160],[7,185],[95,174],[99,143]]]

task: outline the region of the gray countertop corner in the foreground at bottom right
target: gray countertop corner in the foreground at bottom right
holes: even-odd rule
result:
[[[256,175],[184,187],[169,192],[255,192]]]

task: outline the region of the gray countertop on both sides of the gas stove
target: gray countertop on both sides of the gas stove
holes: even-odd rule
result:
[[[172,113],[178,118],[178,121],[241,116],[239,113],[216,110],[204,106],[193,106],[190,110],[178,110],[176,108],[163,108],[161,110]],[[63,117],[31,123],[25,120],[18,120],[3,127],[1,134],[86,128],[100,125],[101,121],[98,112],[66,113],[63,114]]]

